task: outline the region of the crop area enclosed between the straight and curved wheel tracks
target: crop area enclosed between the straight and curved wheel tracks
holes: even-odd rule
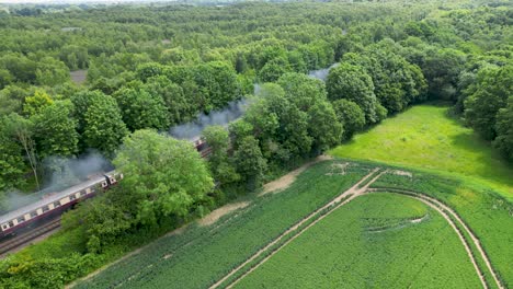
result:
[[[436,211],[409,197],[371,194],[333,211],[235,288],[479,286],[456,233]]]

